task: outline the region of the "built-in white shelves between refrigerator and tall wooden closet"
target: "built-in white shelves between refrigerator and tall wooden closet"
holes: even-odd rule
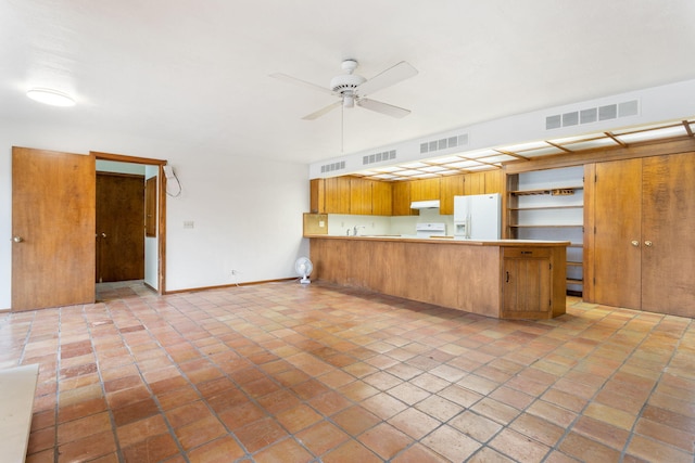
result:
[[[567,248],[567,292],[583,287],[584,168],[536,170],[508,176],[507,235],[561,240]]]

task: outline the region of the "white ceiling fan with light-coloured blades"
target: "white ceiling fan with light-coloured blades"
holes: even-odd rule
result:
[[[405,61],[402,61],[395,66],[383,70],[381,74],[378,74],[370,79],[366,79],[357,74],[354,74],[357,66],[358,63],[355,60],[343,61],[342,69],[344,70],[344,74],[340,74],[333,77],[330,80],[329,88],[317,86],[315,83],[307,82],[305,80],[301,80],[280,73],[270,74],[270,77],[308,87],[324,93],[332,94],[340,99],[326,107],[323,107],[312,114],[302,117],[302,119],[305,120],[314,120],[339,106],[354,107],[355,105],[364,107],[365,110],[375,111],[377,113],[386,114],[387,116],[399,118],[405,117],[410,114],[409,110],[405,110],[403,107],[394,106],[388,103],[382,103],[380,101],[371,100],[366,97],[378,90],[397,83],[401,80],[405,80],[417,75],[417,69],[415,67],[413,67]]]

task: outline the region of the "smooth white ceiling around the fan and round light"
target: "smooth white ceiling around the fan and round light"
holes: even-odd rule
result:
[[[328,87],[344,59],[366,78],[415,66],[370,95],[407,117],[345,110],[353,153],[693,79],[693,24],[692,0],[0,0],[0,118],[314,163],[341,154],[341,111],[302,120],[332,97],[273,73]]]

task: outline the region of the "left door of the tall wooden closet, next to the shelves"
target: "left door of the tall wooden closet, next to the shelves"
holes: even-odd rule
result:
[[[640,309],[642,159],[596,164],[594,300]]]

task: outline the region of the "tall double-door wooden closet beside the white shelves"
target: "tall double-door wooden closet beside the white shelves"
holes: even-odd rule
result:
[[[695,153],[593,169],[585,300],[695,317]]]

